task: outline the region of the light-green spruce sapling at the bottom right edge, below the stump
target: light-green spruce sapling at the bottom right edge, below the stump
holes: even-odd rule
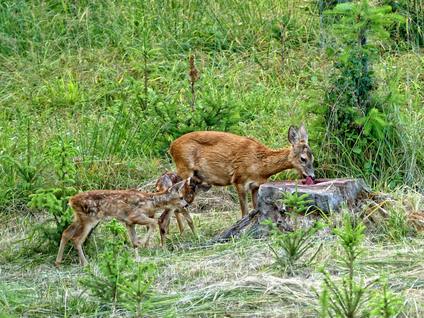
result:
[[[354,272],[357,268],[357,259],[365,251],[361,248],[365,235],[362,234],[365,226],[359,223],[356,227],[352,227],[351,219],[348,213],[343,217],[343,229],[333,229],[333,233],[339,238],[338,244],[343,248],[344,255],[331,253],[341,264],[346,266],[349,276],[342,275],[341,282],[332,280],[330,273],[325,270],[328,259],[324,266],[317,266],[318,272],[324,275],[322,292],[319,294],[315,288],[312,288],[321,304],[320,310],[316,310],[321,317],[343,317],[343,318],[359,318],[369,317],[369,315],[385,315],[390,317],[389,312],[399,312],[397,306],[402,304],[402,298],[396,298],[392,294],[386,295],[385,285],[383,286],[384,295],[376,296],[375,291],[371,291],[371,287],[379,282],[383,282],[384,277],[373,279],[365,284],[361,278],[359,283],[354,279]],[[369,305],[367,306],[369,302]],[[366,309],[374,307],[371,313]]]

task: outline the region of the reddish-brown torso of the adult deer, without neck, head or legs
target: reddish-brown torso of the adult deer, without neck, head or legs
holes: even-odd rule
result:
[[[269,151],[253,138],[220,131],[185,134],[169,148],[178,172],[195,171],[203,182],[221,186],[245,182],[259,173],[261,160]]]

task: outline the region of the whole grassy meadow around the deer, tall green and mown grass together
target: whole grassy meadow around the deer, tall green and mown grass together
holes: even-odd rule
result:
[[[387,39],[368,33],[361,54],[374,56],[367,66],[374,84],[368,100],[357,98],[345,112],[347,86],[329,97],[340,92],[346,46],[329,31],[340,19],[323,14],[335,3],[1,1],[0,317],[134,316],[119,297],[107,301],[84,285],[87,271],[71,243],[54,267],[60,226],[72,219],[60,193],[153,192],[161,173],[175,170],[167,150],[185,133],[227,131],[278,149],[290,145],[289,126],[301,123],[317,178],[363,178],[396,198],[390,220],[366,234],[355,270],[358,281],[385,276],[388,290],[404,299],[397,317],[423,317],[424,240],[408,221],[411,213],[424,218],[423,5],[372,2],[393,5],[408,20],[385,25]],[[67,159],[69,179],[60,172],[66,142],[76,149]],[[286,170],[271,180],[296,178]],[[51,200],[59,205],[31,204],[39,193],[56,193]],[[235,187],[201,192],[190,211],[197,239],[188,226],[182,237],[173,218],[168,250],[156,230],[127,271],[133,277],[137,264],[153,263],[143,316],[320,317],[311,287],[320,290],[323,276],[307,262],[293,273],[275,268],[273,239],[202,247],[240,219]],[[112,237],[105,225],[84,244],[88,270],[100,276],[98,255]],[[138,237],[143,231],[137,227]],[[131,252],[127,235],[120,237],[122,254]],[[318,251],[314,264],[328,262],[336,282],[347,275],[332,254],[343,250],[337,242],[316,236],[303,258]],[[381,294],[381,284],[375,288]]]

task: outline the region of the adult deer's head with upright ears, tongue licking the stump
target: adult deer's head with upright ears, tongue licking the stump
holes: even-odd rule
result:
[[[288,139],[292,145],[289,161],[293,165],[293,168],[302,177],[306,178],[309,176],[312,180],[315,180],[314,168],[312,167],[314,156],[312,155],[311,148],[308,147],[308,132],[305,125],[301,124],[298,130],[296,130],[294,125],[290,125]]]

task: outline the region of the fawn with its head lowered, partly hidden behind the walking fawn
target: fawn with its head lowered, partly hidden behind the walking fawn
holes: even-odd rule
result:
[[[162,175],[159,177],[158,181],[156,182],[156,191],[163,191],[162,179],[165,178],[165,176],[169,177],[172,184],[177,184],[178,182],[181,182],[182,180],[179,174],[176,173],[175,171],[165,171],[164,173],[162,173]],[[200,179],[193,176],[190,178],[190,183],[188,182],[185,183],[184,187],[181,188],[181,193],[184,196],[184,200],[187,202],[187,204],[190,205],[192,204],[198,192],[206,192],[211,187],[212,185],[202,183]],[[184,215],[184,218],[187,220],[187,223],[190,226],[190,229],[192,230],[194,236],[197,237],[197,232],[194,227],[193,220],[190,217],[190,214],[187,212],[187,209],[165,209],[165,211],[162,213],[162,215],[158,219],[159,232],[160,232],[160,237],[162,241],[162,248],[164,250],[166,250],[165,235],[168,233],[169,223],[173,213],[175,213],[175,218],[177,219],[181,236],[185,235],[185,231],[184,231],[184,225],[181,220],[180,213]]]

